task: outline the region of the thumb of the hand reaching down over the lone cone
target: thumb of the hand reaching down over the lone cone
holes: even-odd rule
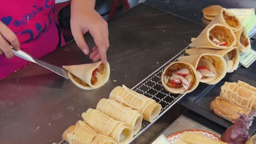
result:
[[[83,31],[80,31],[79,29],[73,29],[72,34],[78,47],[85,53],[85,55],[88,55],[89,47],[85,43]]]

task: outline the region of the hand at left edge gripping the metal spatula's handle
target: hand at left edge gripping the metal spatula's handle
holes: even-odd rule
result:
[[[14,50],[20,50],[20,43],[14,32],[0,21],[0,55],[4,53],[7,58],[12,58],[14,53],[10,45]]]

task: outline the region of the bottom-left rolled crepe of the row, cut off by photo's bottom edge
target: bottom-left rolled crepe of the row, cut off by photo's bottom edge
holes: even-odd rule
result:
[[[111,137],[97,133],[83,121],[67,128],[62,134],[62,139],[69,144],[117,144]]]

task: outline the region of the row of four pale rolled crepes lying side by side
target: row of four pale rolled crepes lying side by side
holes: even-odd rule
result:
[[[125,144],[142,128],[142,120],[153,122],[162,106],[125,87],[115,87],[109,99],[101,99],[96,109],[82,113],[84,121],[68,127],[62,139],[69,144]]]

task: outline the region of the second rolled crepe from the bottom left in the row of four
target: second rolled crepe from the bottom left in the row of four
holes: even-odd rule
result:
[[[118,143],[129,143],[132,140],[133,134],[130,127],[98,110],[88,109],[86,113],[82,113],[82,117],[91,128],[98,133],[112,137]]]

